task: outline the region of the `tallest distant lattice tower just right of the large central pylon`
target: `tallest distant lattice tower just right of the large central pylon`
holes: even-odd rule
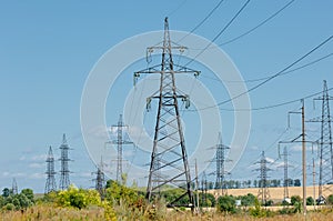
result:
[[[222,143],[222,134],[219,132],[219,141],[216,144],[216,181],[215,189],[220,189],[222,195],[228,194],[228,189],[225,184],[225,175],[229,174],[225,171],[225,162],[228,161],[225,150],[230,149],[229,147]]]

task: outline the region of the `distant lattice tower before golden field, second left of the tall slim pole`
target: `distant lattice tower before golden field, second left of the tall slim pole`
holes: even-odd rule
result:
[[[269,183],[268,183],[268,171],[271,169],[268,168],[268,160],[265,158],[265,151],[262,151],[261,154],[261,160],[258,162],[260,164],[260,188],[259,188],[259,193],[258,198],[261,200],[261,203],[263,205],[266,205],[268,201],[270,200],[270,190],[269,190]]]

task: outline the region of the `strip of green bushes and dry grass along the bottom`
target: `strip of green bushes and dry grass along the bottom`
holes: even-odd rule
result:
[[[200,192],[200,211],[185,208],[170,209],[167,202],[181,194],[178,189],[162,191],[162,198],[148,203],[144,192],[108,181],[102,195],[95,190],[70,185],[68,190],[50,192],[34,199],[33,191],[23,189],[13,194],[2,190],[0,197],[2,220],[300,220],[302,199],[291,198],[291,203],[274,203],[275,209],[263,207],[255,195],[222,195]],[[196,195],[196,194],[195,194]],[[306,199],[313,204],[312,198]],[[184,199],[184,204],[188,203]],[[327,198],[333,204],[333,195]],[[278,208],[279,205],[279,208]],[[276,209],[278,208],[278,209]],[[309,220],[333,220],[330,205],[310,211]]]

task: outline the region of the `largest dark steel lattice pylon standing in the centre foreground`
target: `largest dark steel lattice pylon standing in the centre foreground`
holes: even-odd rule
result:
[[[191,174],[178,99],[182,99],[186,108],[190,102],[189,97],[181,94],[176,89],[174,74],[194,73],[194,76],[198,76],[200,72],[173,63],[172,50],[184,49],[185,47],[176,46],[171,42],[169,22],[168,18],[165,18],[162,46],[148,48],[149,52],[153,50],[162,51],[161,64],[138,71],[134,73],[134,78],[140,77],[141,73],[160,74],[159,91],[148,98],[148,107],[151,99],[158,99],[159,106],[147,187],[147,199],[152,200],[153,195],[159,194],[160,188],[168,184],[184,189],[182,197],[188,195],[190,207],[193,208]],[[168,205],[179,205],[175,201],[168,202]]]

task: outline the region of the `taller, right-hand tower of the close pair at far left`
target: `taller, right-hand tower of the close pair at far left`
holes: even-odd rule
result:
[[[65,190],[68,189],[69,184],[70,184],[70,179],[69,179],[69,162],[71,161],[69,159],[69,145],[67,143],[67,139],[65,139],[65,134],[63,133],[62,135],[62,144],[59,148],[61,150],[61,158],[60,160],[60,184],[59,184],[59,189],[61,190]]]

